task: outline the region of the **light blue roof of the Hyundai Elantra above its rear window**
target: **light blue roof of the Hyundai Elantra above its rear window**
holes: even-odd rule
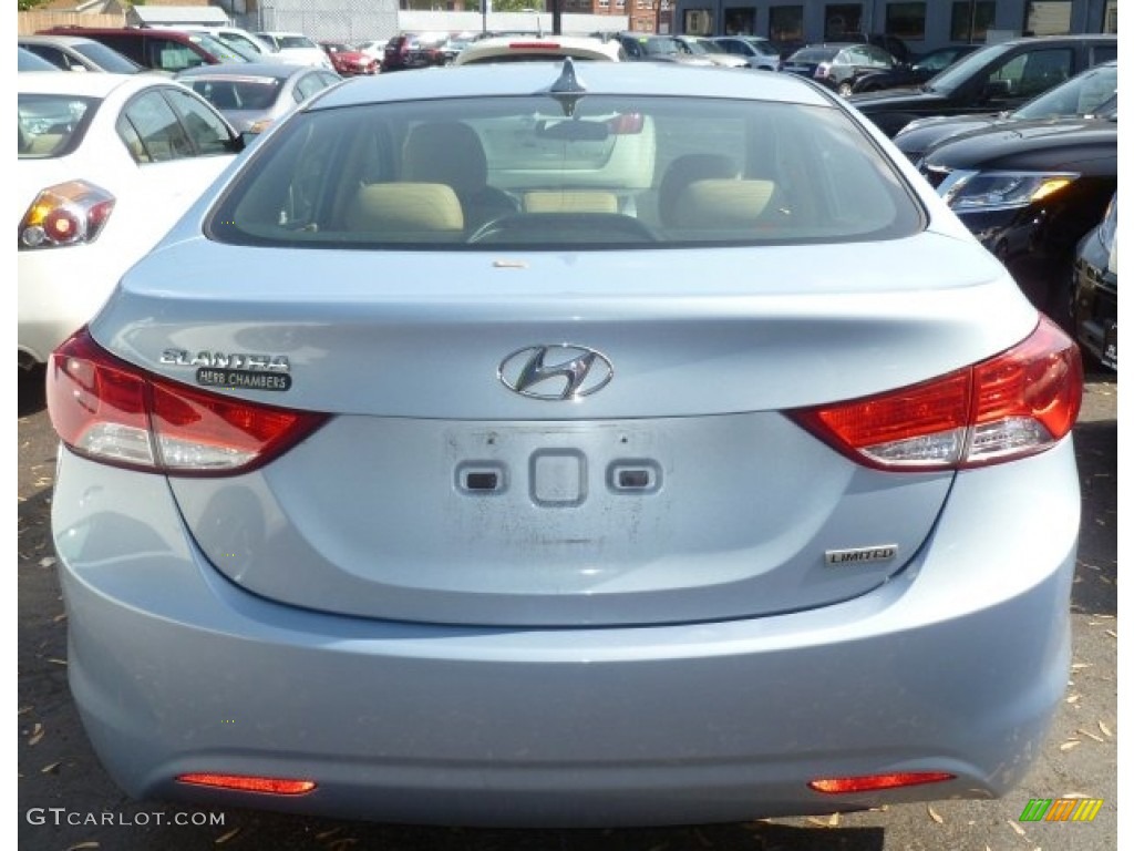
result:
[[[490,98],[545,92],[565,62],[474,64],[355,77],[321,96],[312,109],[442,98]],[[578,62],[576,78],[592,94],[733,98],[831,106],[833,95],[793,74],[737,74],[722,66],[658,62]]]

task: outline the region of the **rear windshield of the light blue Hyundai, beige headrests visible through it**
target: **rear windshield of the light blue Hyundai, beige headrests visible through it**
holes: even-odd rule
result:
[[[857,242],[922,213],[839,109],[593,94],[570,118],[547,95],[298,113],[210,222],[236,244],[484,251]]]

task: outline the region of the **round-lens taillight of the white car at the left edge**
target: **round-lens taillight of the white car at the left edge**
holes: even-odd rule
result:
[[[49,186],[36,195],[19,222],[19,247],[58,248],[93,243],[113,209],[115,196],[86,180]]]

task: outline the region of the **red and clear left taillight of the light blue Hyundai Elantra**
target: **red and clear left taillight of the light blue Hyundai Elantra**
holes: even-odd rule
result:
[[[177,475],[254,469],[327,420],[144,372],[100,348],[85,329],[51,355],[48,411],[59,438],[74,452]]]

